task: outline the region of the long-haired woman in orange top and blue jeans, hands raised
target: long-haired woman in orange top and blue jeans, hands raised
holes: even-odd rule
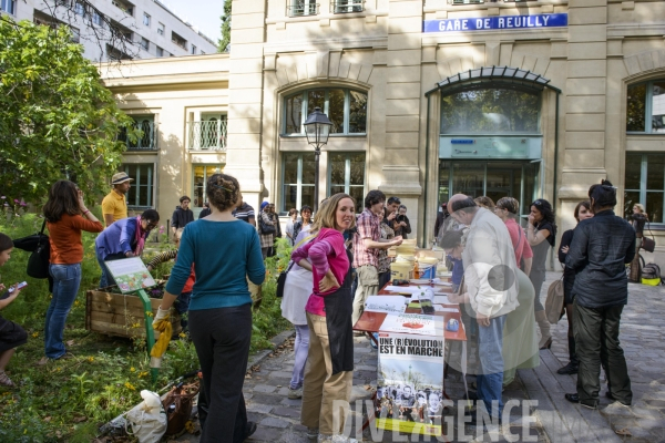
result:
[[[49,359],[58,360],[68,356],[63,332],[66,316],[81,285],[81,231],[101,233],[104,229],[100,220],[85,207],[81,189],[70,181],[58,181],[51,186],[43,210],[51,246],[49,272],[53,278],[53,297],[44,324],[47,356],[39,364],[45,364]]]

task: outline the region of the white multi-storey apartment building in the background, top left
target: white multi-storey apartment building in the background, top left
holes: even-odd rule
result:
[[[137,60],[217,52],[216,43],[157,0],[0,0],[18,20],[68,23],[93,61]]]

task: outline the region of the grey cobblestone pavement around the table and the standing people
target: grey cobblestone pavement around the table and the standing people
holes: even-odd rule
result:
[[[549,272],[543,286],[544,302],[550,282],[561,277],[561,272]],[[541,351],[541,365],[534,370],[518,371],[516,380],[503,394],[509,400],[538,401],[531,416],[522,418],[521,409],[515,408],[510,426],[501,432],[490,427],[490,432],[477,434],[478,429],[460,426],[452,422],[448,441],[483,442],[551,442],[551,443],[613,443],[649,442],[665,443],[665,337],[662,330],[665,319],[665,288],[631,285],[628,306],[622,318],[621,342],[626,353],[628,372],[633,383],[634,400],[631,408],[611,404],[601,393],[601,409],[591,411],[569,403],[563,398],[566,392],[575,392],[576,375],[559,375],[556,369],[567,363],[567,322],[565,317],[552,327],[555,338],[551,350]],[[282,337],[282,340],[286,336]],[[300,400],[288,400],[288,382],[294,363],[293,349],[286,342],[282,352],[273,357],[255,357],[250,364],[259,364],[245,381],[245,399],[249,420],[258,423],[258,430],[248,442],[308,442],[305,429],[299,424]],[[434,437],[393,435],[391,432],[374,433],[361,431],[364,414],[361,403],[369,400],[376,389],[377,351],[365,338],[355,339],[356,370],[351,394],[351,435],[366,442],[437,441]],[[469,377],[469,381],[473,378]],[[451,371],[446,380],[446,389],[451,399],[461,399],[464,391],[461,374]],[[358,408],[360,406],[360,409]],[[457,418],[456,409],[451,414]],[[530,422],[529,419],[533,422]],[[462,429],[463,427],[463,429]],[[633,437],[622,437],[614,431],[628,429]],[[511,434],[513,436],[511,436]],[[197,442],[197,437],[185,434],[178,441]],[[439,441],[446,441],[440,439]]]

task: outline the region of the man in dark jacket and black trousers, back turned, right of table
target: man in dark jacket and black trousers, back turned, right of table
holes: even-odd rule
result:
[[[614,215],[616,188],[608,181],[589,189],[593,218],[580,222],[565,259],[575,270],[573,333],[580,369],[577,392],[565,399],[590,409],[598,405],[601,363],[605,395],[630,405],[631,379],[618,343],[621,313],[628,301],[625,265],[635,255],[635,229]]]

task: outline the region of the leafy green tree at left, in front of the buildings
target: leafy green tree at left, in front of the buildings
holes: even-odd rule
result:
[[[50,185],[75,181],[93,199],[137,130],[72,43],[68,27],[0,20],[0,193],[39,203]]]

